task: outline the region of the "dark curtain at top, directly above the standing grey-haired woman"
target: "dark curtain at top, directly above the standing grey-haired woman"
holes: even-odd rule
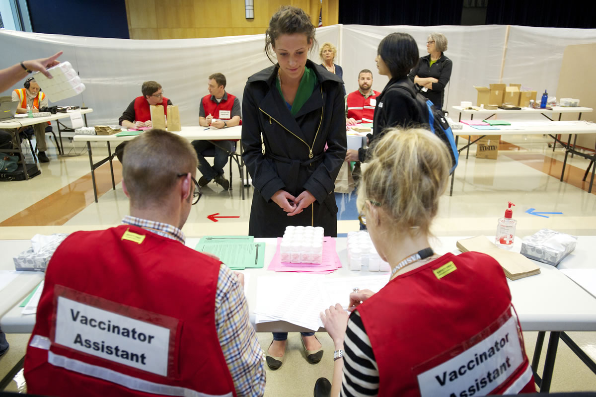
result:
[[[361,25],[459,25],[463,0],[340,0],[339,23]]]

